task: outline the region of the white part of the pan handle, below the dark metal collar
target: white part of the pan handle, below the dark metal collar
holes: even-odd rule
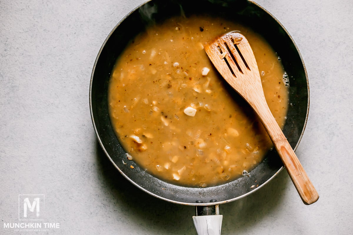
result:
[[[198,235],[221,235],[223,215],[193,216]]]

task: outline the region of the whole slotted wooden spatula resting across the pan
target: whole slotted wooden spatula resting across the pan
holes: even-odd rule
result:
[[[218,72],[261,119],[303,202],[307,205],[316,202],[319,198],[316,189],[267,105],[256,59],[247,39],[238,31],[232,31],[204,48]]]

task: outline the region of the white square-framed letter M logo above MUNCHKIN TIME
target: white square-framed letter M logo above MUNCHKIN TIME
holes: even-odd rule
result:
[[[18,220],[43,220],[44,209],[44,194],[18,195]]]

